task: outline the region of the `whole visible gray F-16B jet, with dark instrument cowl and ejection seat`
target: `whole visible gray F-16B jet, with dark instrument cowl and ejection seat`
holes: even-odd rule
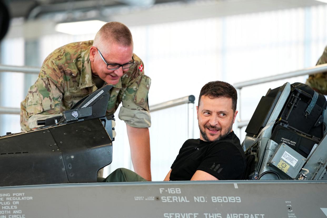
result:
[[[0,217],[326,214],[325,193],[316,190],[326,185],[327,103],[307,85],[287,82],[261,98],[242,143],[244,180],[99,183],[97,171],[112,162],[115,122],[105,116],[111,88],[103,86],[62,116],[38,121],[44,125],[38,129],[0,137]],[[126,206],[135,210],[122,210]]]

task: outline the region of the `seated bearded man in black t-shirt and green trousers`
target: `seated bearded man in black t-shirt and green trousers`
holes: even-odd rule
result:
[[[181,147],[168,180],[243,179],[246,157],[240,140],[232,130],[236,118],[237,92],[226,82],[204,85],[197,106],[199,139],[189,139]],[[146,181],[136,173],[120,168],[104,182]]]

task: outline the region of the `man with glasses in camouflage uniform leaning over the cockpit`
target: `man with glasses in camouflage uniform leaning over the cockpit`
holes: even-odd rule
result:
[[[38,79],[21,103],[22,131],[39,127],[37,120],[62,115],[84,96],[111,84],[106,114],[114,113],[122,102],[118,117],[127,126],[134,170],[150,181],[150,83],[142,60],[133,54],[128,27],[109,22],[94,41],[64,45],[44,60]]]

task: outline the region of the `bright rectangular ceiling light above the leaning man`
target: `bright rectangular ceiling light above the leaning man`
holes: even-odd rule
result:
[[[55,29],[71,35],[90,34],[99,31],[106,22],[100,20],[77,21],[57,24]]]

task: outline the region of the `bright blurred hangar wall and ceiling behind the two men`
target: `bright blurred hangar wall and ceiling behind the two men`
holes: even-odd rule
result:
[[[100,20],[126,24],[134,53],[152,79],[152,105],[187,95],[183,104],[151,113],[151,171],[161,181],[183,142],[199,137],[196,109],[201,87],[214,80],[231,84],[296,71],[316,64],[327,45],[327,4],[317,0],[11,0],[9,32],[1,42],[0,64],[41,67],[54,49],[92,40],[95,29],[72,33],[58,24]],[[76,26],[76,25],[75,25]],[[95,27],[95,25],[93,25]],[[70,28],[72,30],[72,28]],[[0,107],[19,108],[37,74],[0,73]],[[305,83],[307,75],[245,87],[237,116],[249,120],[268,88]],[[115,117],[118,117],[118,111]],[[191,115],[188,114],[191,112]],[[133,169],[126,126],[116,119],[112,164]],[[241,141],[245,127],[234,131]],[[19,114],[0,115],[0,135],[20,132]],[[104,175],[104,176],[105,176]]]

